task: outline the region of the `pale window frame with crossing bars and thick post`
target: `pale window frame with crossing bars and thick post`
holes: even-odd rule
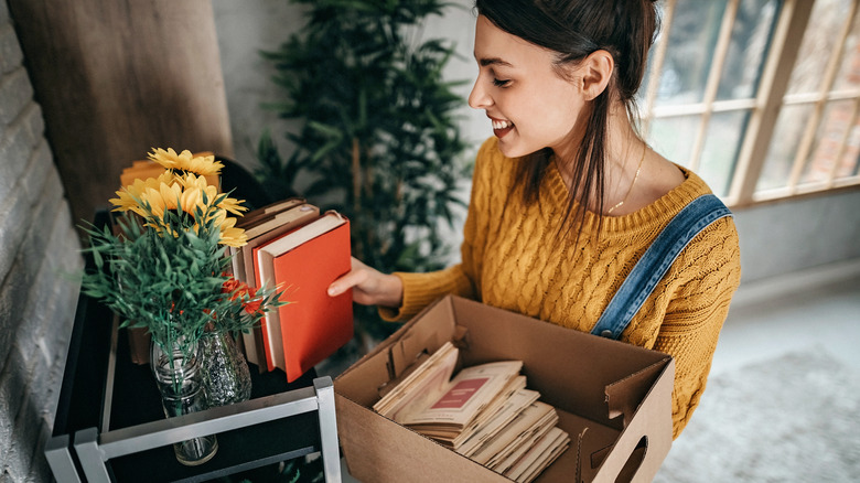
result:
[[[648,73],[647,92],[644,98],[644,111],[642,112],[641,129],[643,137],[648,138],[652,121],[662,118],[696,115],[700,117],[696,138],[687,167],[696,171],[699,168],[708,127],[711,117],[718,112],[744,111],[749,116],[746,127],[741,135],[741,144],[738,158],[734,160],[734,172],[728,193],[723,198],[727,205],[744,207],[778,200],[794,198],[809,194],[832,192],[845,189],[860,187],[860,174],[849,178],[836,179],[838,162],[834,162],[829,179],[816,183],[800,183],[800,178],[810,162],[809,153],[815,147],[824,112],[828,103],[834,100],[853,99],[851,124],[846,129],[837,160],[841,158],[850,139],[851,126],[858,124],[860,116],[860,88],[847,90],[832,90],[834,83],[841,66],[845,44],[851,34],[854,20],[860,8],[860,0],[852,0],[850,11],[839,32],[837,49],[830,54],[821,83],[816,93],[787,95],[789,80],[798,57],[804,33],[809,25],[815,0],[783,0],[777,12],[776,22],[770,45],[765,53],[761,78],[756,93],[752,98],[718,100],[717,94],[722,76],[723,65],[731,44],[732,28],[737,18],[741,0],[729,0],[714,46],[713,57],[709,67],[705,84],[702,100],[692,104],[666,105],[655,104],[659,88],[663,64],[668,49],[669,32],[674,17],[675,6],[678,0],[667,0],[663,10],[662,40],[655,45],[652,58],[652,68]],[[759,178],[762,175],[767,151],[771,147],[775,126],[783,106],[809,105],[813,114],[806,121],[804,135],[800,139],[795,159],[793,160],[787,186],[762,190],[756,192]],[[860,161],[858,161],[860,163]]]

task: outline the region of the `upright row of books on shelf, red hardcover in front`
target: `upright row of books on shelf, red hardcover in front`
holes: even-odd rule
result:
[[[353,337],[352,292],[326,292],[351,268],[350,221],[293,197],[255,210],[236,226],[248,243],[230,248],[234,278],[277,287],[287,302],[243,334],[246,357],[293,382]]]

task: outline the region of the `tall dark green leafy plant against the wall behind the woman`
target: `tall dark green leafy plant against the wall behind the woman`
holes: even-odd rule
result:
[[[276,196],[322,198],[344,213],[353,255],[379,270],[442,268],[450,246],[438,228],[464,205],[459,183],[469,167],[455,124],[459,83],[442,78],[453,46],[422,41],[420,31],[449,4],[292,1],[304,7],[305,25],[264,55],[284,92],[270,107],[300,126],[284,135],[294,148],[287,158],[261,137],[260,179]],[[362,310],[359,335],[396,329]]]

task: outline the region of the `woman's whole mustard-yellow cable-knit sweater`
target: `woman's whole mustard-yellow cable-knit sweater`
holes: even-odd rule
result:
[[[694,198],[710,193],[699,176],[681,169],[684,183],[635,213],[604,217],[599,240],[574,249],[556,237],[568,194],[558,170],[552,165],[545,176],[539,203],[523,206],[507,198],[516,162],[498,151],[496,138],[484,142],[475,162],[461,264],[430,273],[396,273],[404,281],[404,303],[399,310],[380,309],[384,318],[406,320],[439,297],[455,293],[590,332],[663,227]],[[592,239],[596,221],[587,213],[584,239]],[[705,390],[740,277],[734,223],[721,218],[684,249],[621,335],[675,358],[676,438]]]

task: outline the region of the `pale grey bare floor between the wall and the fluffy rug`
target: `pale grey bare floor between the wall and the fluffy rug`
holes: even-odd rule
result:
[[[711,375],[810,346],[860,371],[860,260],[743,285]],[[345,483],[357,482],[342,468]]]

